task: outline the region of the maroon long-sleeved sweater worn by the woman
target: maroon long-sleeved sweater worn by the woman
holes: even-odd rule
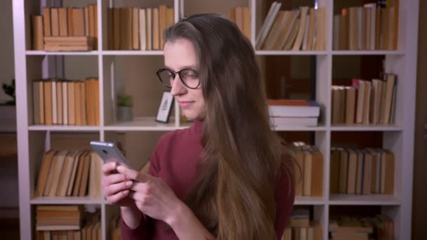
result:
[[[192,184],[197,180],[197,161],[202,154],[203,122],[195,121],[190,128],[172,131],[164,135],[150,159],[150,175],[162,178],[175,192],[178,199],[184,200]],[[281,168],[282,169],[282,168]],[[282,237],[289,215],[294,205],[294,182],[289,182],[284,170],[275,186],[277,203],[277,218],[275,231],[277,239]],[[142,218],[139,227],[130,229],[121,220],[121,239],[178,239],[171,229],[165,229],[166,224],[152,218]]]

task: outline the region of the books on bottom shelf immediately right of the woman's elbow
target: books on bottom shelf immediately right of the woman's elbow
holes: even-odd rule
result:
[[[322,226],[310,221],[310,209],[296,207],[292,211],[289,225],[284,229],[282,240],[321,240]]]

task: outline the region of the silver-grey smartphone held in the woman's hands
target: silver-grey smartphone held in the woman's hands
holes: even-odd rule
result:
[[[118,161],[119,164],[129,167],[129,162],[112,142],[91,141],[91,147],[103,159],[104,163]]]

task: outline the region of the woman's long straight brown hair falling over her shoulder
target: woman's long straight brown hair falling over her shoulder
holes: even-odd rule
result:
[[[181,38],[195,48],[207,109],[202,173],[186,204],[217,239],[276,239],[282,143],[270,128],[254,48],[216,14],[192,15],[164,32],[165,43]]]

